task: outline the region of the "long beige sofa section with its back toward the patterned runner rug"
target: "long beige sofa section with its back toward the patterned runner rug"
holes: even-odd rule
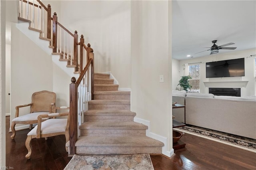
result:
[[[256,139],[256,97],[186,93],[186,124]]]

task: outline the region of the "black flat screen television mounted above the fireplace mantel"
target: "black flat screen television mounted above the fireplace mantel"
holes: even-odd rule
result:
[[[206,63],[206,78],[244,76],[244,58]]]

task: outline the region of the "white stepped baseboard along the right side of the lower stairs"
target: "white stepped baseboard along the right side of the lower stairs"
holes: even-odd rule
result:
[[[173,148],[171,150],[167,150],[168,139],[166,137],[150,132],[150,121],[134,117],[134,122],[142,123],[142,124],[148,126],[148,129],[146,130],[146,136],[156,139],[156,140],[159,140],[160,142],[164,143],[164,146],[162,147],[162,154],[164,154],[168,157],[171,157],[174,154]]]

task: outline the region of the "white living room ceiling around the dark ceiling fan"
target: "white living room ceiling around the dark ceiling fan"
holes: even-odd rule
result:
[[[210,55],[204,50],[213,45],[212,40],[218,40],[216,45],[232,42],[227,47],[237,47],[219,53],[256,48],[256,1],[172,0],[172,58]]]

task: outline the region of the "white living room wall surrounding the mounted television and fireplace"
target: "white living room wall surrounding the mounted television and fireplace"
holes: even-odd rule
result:
[[[252,96],[254,95],[254,57],[249,57],[250,55],[254,55],[256,53],[256,49],[248,49],[244,51],[234,51],[230,53],[217,53],[213,55],[207,55],[205,57],[198,57],[192,59],[186,59],[179,61],[179,69],[183,69],[183,64],[186,65],[185,75],[188,69],[188,63],[202,62],[200,64],[200,93],[208,93],[208,87],[205,86],[203,82],[212,82],[218,81],[220,83],[212,86],[222,86],[222,87],[238,87],[239,84],[228,81],[248,81],[246,87],[242,87],[241,96]],[[245,76],[243,77],[218,77],[218,78],[206,78],[206,62],[211,61],[221,61],[225,59],[236,59],[236,58],[244,58],[245,65]],[[180,72],[180,76],[183,75],[183,72]],[[175,80],[176,81],[176,80]],[[178,84],[178,82],[177,82]]]

